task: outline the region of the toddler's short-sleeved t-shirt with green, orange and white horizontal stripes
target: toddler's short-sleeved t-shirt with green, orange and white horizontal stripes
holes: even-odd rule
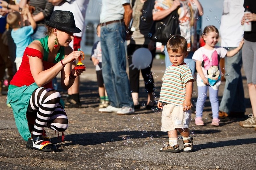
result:
[[[193,78],[192,72],[187,64],[167,67],[162,81],[160,102],[182,106],[186,94],[186,82]]]

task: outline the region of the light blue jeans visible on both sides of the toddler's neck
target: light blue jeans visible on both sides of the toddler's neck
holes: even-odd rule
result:
[[[169,67],[172,65],[170,59],[169,59],[169,54],[167,52],[167,48],[166,48],[166,45],[164,46],[164,54],[165,54],[165,68]],[[192,51],[189,51],[188,52],[188,55],[187,55],[187,58],[184,59],[184,62],[189,66],[191,72],[192,72],[192,75],[195,74],[195,71],[196,71],[196,62],[192,59],[193,57],[193,54],[194,52]]]

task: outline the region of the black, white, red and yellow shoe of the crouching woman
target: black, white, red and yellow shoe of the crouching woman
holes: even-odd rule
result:
[[[35,144],[36,141],[40,141],[40,140],[41,142]],[[36,149],[38,151],[44,151],[44,152],[52,152],[52,151],[58,150],[56,145],[51,143],[48,139],[44,139],[43,136],[29,138],[26,144],[26,148]]]

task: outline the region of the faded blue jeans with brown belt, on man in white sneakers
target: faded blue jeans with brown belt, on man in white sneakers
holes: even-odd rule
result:
[[[101,27],[102,76],[110,105],[133,107],[126,73],[125,25],[116,22]]]

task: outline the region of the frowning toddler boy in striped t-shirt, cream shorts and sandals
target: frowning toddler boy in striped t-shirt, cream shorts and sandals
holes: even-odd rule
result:
[[[167,51],[171,66],[163,75],[160,98],[157,107],[162,111],[161,131],[168,132],[169,145],[160,148],[160,152],[180,152],[178,131],[183,137],[184,152],[193,151],[193,141],[190,137],[188,124],[191,118],[191,97],[193,91],[192,72],[184,63],[187,57],[187,41],[184,37],[175,35],[167,42]]]

